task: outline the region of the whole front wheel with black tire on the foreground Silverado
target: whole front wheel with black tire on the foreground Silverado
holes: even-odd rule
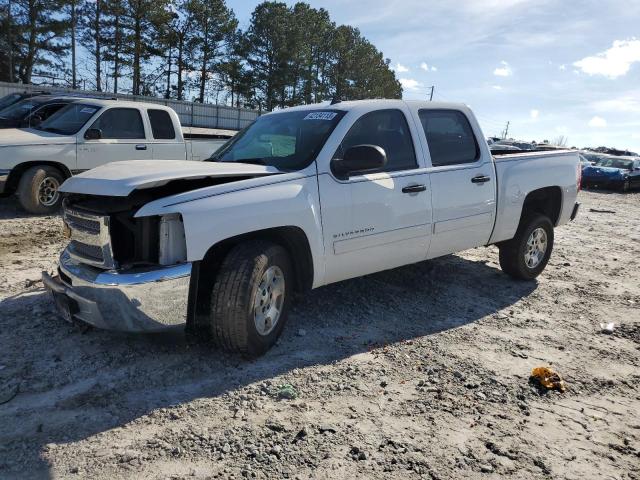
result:
[[[293,293],[287,251],[266,241],[234,247],[222,261],[211,293],[209,328],[222,349],[264,354],[282,333]]]

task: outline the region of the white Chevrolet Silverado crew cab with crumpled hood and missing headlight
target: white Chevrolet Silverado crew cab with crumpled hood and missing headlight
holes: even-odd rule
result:
[[[463,105],[367,100],[264,115],[211,161],[96,168],[61,188],[70,243],[43,280],[67,319],[253,356],[296,291],[489,244],[534,279],[577,214],[578,155],[483,138]]]

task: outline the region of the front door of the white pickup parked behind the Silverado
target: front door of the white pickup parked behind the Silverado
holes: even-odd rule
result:
[[[121,160],[151,160],[153,151],[146,140],[140,110],[110,108],[89,126],[98,129],[101,138],[82,139],[78,143],[78,170],[89,170]]]

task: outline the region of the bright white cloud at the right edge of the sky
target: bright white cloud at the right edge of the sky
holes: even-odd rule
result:
[[[616,40],[604,52],[574,62],[587,75],[618,78],[626,75],[633,63],[640,62],[640,40]]]

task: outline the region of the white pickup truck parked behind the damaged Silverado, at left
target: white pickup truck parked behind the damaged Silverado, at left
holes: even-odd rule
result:
[[[153,103],[78,99],[35,128],[0,130],[0,196],[31,213],[60,206],[58,187],[114,160],[204,160],[228,135],[185,140],[176,113]]]

